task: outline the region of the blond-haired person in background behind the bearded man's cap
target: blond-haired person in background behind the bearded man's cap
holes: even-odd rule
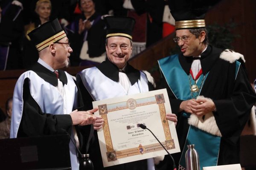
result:
[[[23,67],[28,69],[38,60],[38,51],[33,42],[31,42],[28,34],[35,28],[49,21],[51,15],[52,3],[50,0],[38,0],[35,6],[35,13],[37,14],[33,23],[24,27],[25,37],[23,42]]]

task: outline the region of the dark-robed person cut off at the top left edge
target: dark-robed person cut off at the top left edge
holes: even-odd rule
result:
[[[22,9],[17,0],[0,0],[0,70],[22,68]]]

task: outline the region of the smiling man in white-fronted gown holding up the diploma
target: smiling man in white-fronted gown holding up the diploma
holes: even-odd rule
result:
[[[92,107],[92,101],[109,99],[118,96],[138,94],[154,90],[153,79],[128,64],[132,52],[132,29],[134,19],[130,17],[105,17],[107,26],[105,62],[93,68],[87,68],[77,75],[79,88],[84,101]],[[169,115],[169,116],[168,116]],[[177,121],[175,114],[168,114],[166,119]],[[173,116],[173,117],[172,117]],[[94,170],[103,170],[96,129],[102,127],[103,119],[94,124],[95,141],[90,146],[90,159]],[[95,164],[97,162],[97,164]],[[153,159],[144,159],[125,164],[106,167],[104,170],[154,170]]]

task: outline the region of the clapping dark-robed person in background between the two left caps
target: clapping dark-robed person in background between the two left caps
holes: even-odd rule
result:
[[[78,3],[82,14],[66,27],[73,42],[71,65],[78,65],[80,59],[80,65],[97,65],[106,59],[105,22],[95,11],[94,0],[79,0]]]

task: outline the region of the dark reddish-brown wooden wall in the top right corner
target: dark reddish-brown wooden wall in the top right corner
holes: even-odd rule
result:
[[[223,25],[232,21],[237,24],[233,34],[238,34],[232,45],[236,52],[244,55],[250,82],[256,79],[256,0],[223,0],[206,15],[206,23]]]

